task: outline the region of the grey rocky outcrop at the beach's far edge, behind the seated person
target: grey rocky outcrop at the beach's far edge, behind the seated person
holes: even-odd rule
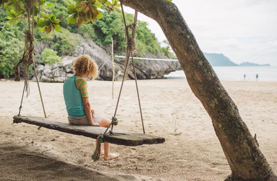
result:
[[[78,36],[78,42],[81,42],[72,53],[71,57],[62,57],[53,65],[37,65],[37,75],[39,81],[42,82],[64,82],[64,80],[73,75],[72,64],[73,61],[80,55],[89,55],[95,59],[99,68],[100,80],[112,79],[112,63],[111,56],[109,56],[104,48],[98,46],[92,40],[85,40]],[[41,45],[40,45],[41,46]],[[121,79],[124,73],[125,59],[115,58],[115,79]],[[178,61],[153,61],[153,60],[135,60],[136,77],[138,79],[155,79],[163,77],[172,71],[179,70]],[[134,70],[132,64],[129,64],[128,77],[134,79]],[[34,79],[34,78],[33,78]]]

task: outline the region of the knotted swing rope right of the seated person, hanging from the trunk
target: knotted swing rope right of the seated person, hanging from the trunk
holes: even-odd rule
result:
[[[105,132],[103,134],[98,135],[98,137],[97,137],[96,150],[94,151],[93,155],[91,156],[91,158],[94,161],[97,161],[100,158],[100,146],[101,146],[102,142],[105,142],[104,136],[107,134],[107,131],[111,127],[111,130],[109,131],[109,134],[114,135],[113,128],[114,128],[114,126],[116,126],[118,124],[118,120],[116,119],[116,112],[117,112],[117,109],[118,109],[118,104],[119,104],[120,95],[121,95],[121,92],[122,92],[122,89],[123,89],[124,80],[125,80],[125,77],[127,75],[127,72],[129,71],[128,70],[128,65],[129,65],[130,55],[132,57],[134,78],[135,78],[135,82],[136,82],[136,93],[137,93],[138,100],[139,100],[139,110],[140,110],[140,113],[141,113],[141,122],[142,122],[142,126],[143,126],[143,133],[145,133],[145,128],[144,128],[144,124],[143,124],[143,115],[142,115],[142,111],[141,111],[141,101],[140,101],[140,98],[139,98],[139,87],[138,87],[138,84],[137,84],[136,70],[135,70],[135,66],[134,66],[134,57],[133,57],[133,53],[132,53],[132,51],[136,48],[136,41],[135,41],[134,37],[135,37],[135,34],[136,34],[136,21],[137,21],[137,17],[138,17],[138,11],[135,10],[134,23],[127,26],[126,20],[125,20],[125,14],[124,14],[124,10],[123,10],[123,4],[121,2],[120,2],[120,6],[121,6],[122,14],[123,14],[124,25],[125,25],[125,35],[127,37],[125,70],[124,70],[124,75],[123,75],[123,79],[122,79],[122,83],[121,83],[121,86],[120,86],[120,91],[119,91],[119,95],[118,95],[118,99],[117,99],[117,103],[116,103],[116,109],[114,111],[114,117],[111,118],[111,123],[106,128]],[[129,29],[132,29],[132,36],[129,35]]]

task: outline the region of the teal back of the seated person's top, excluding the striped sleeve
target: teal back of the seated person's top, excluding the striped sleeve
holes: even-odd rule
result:
[[[75,85],[75,76],[69,77],[64,81],[63,93],[66,111],[69,116],[84,117],[86,113],[82,104],[80,90]]]

